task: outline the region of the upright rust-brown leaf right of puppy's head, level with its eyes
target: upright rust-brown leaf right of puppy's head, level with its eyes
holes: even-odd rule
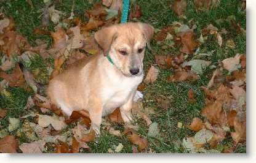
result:
[[[181,32],[177,36],[180,37],[182,41],[182,48],[180,48],[180,51],[188,55],[193,55],[194,50],[198,46],[198,44],[194,40],[194,32],[193,31]]]

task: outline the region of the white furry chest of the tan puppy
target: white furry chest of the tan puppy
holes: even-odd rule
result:
[[[108,81],[102,93],[104,99],[104,110],[111,112],[112,109],[121,107],[129,99],[132,91],[134,91],[138,84],[142,81],[141,77],[125,77],[121,79],[112,78]]]

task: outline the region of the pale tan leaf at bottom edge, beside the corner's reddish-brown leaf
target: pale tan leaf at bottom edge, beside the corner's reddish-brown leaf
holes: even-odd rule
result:
[[[38,140],[33,143],[22,143],[19,148],[22,153],[42,153],[45,144],[44,140]]]

